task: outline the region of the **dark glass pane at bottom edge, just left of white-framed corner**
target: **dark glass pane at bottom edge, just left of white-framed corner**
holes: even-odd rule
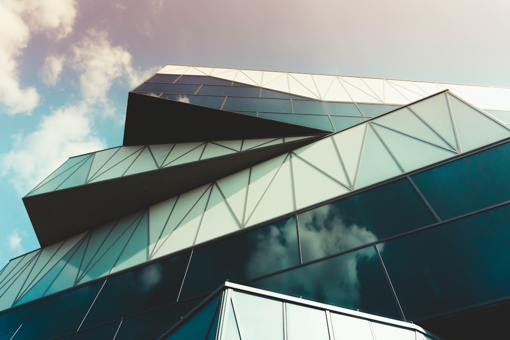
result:
[[[167,307],[124,319],[115,339],[156,339],[177,321],[181,320],[203,298],[178,302]]]

